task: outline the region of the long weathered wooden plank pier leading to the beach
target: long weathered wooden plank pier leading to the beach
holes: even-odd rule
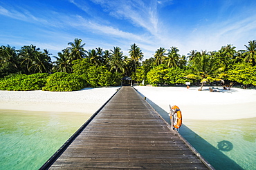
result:
[[[122,87],[41,169],[213,169],[133,87]]]

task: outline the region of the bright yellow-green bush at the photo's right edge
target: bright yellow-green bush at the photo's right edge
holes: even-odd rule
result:
[[[256,66],[248,63],[238,63],[234,66],[235,69],[228,72],[228,80],[244,85],[256,85]]]

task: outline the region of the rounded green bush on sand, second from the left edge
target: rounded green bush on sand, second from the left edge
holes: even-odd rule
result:
[[[51,92],[71,92],[86,87],[86,82],[82,76],[57,72],[48,77],[43,90]]]

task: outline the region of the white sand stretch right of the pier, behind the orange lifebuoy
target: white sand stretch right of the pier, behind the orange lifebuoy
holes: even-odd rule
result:
[[[140,87],[138,92],[170,112],[169,105],[177,105],[185,119],[234,120],[256,117],[256,90],[231,88],[210,92],[209,87]],[[217,88],[217,87],[215,87]],[[219,87],[221,88],[221,87]]]

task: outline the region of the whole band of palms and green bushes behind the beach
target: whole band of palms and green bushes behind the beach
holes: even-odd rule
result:
[[[85,50],[82,39],[69,42],[57,56],[35,45],[20,50],[0,46],[1,90],[73,91],[84,87],[120,85],[130,76],[136,83],[151,85],[256,85],[256,40],[248,41],[244,50],[226,45],[218,51],[179,54],[178,47],[159,47],[146,58],[136,43],[128,56],[113,47]],[[52,59],[54,61],[52,61]]]

